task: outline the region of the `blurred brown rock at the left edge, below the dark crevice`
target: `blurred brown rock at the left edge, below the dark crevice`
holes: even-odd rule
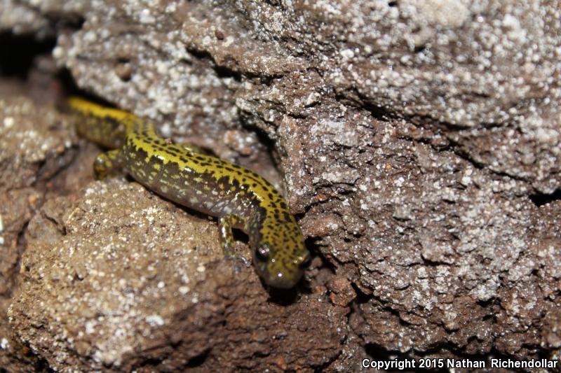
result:
[[[72,127],[53,107],[0,98],[0,366],[12,372],[48,369],[14,336],[6,310],[18,284],[27,224],[49,193],[50,178],[72,160],[75,145]]]

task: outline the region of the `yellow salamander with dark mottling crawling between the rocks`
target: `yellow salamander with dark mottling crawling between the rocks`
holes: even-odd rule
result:
[[[125,169],[159,195],[219,218],[226,255],[234,255],[232,228],[248,234],[259,276],[274,288],[302,277],[309,251],[284,197],[264,178],[238,164],[159,137],[135,115],[80,98],[68,101],[79,134],[112,148],[97,157],[97,178]]]

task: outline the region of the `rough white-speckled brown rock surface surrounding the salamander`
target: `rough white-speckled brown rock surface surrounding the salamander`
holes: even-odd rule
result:
[[[21,107],[59,133],[52,106],[4,100],[4,229],[17,218],[0,232],[15,242],[1,246],[0,359],[84,372],[559,360],[555,1],[3,4],[0,29],[58,36],[53,58],[81,89],[283,188],[316,258],[294,292],[267,292],[222,259],[213,221],[124,178],[94,183],[92,145],[69,164],[72,132],[29,139]]]

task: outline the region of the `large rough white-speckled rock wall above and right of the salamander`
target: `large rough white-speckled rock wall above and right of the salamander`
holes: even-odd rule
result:
[[[21,8],[84,20],[53,51],[84,90],[284,184],[325,259],[313,294],[351,309],[340,355],[308,367],[356,369],[381,351],[558,353],[557,4],[10,4],[5,29]],[[225,359],[300,367],[270,351]]]

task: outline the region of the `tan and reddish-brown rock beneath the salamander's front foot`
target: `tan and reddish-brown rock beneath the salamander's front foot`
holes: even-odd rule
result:
[[[28,235],[9,317],[60,372],[313,369],[345,336],[345,308],[271,302],[252,268],[223,259],[215,223],[136,183],[50,199]]]

